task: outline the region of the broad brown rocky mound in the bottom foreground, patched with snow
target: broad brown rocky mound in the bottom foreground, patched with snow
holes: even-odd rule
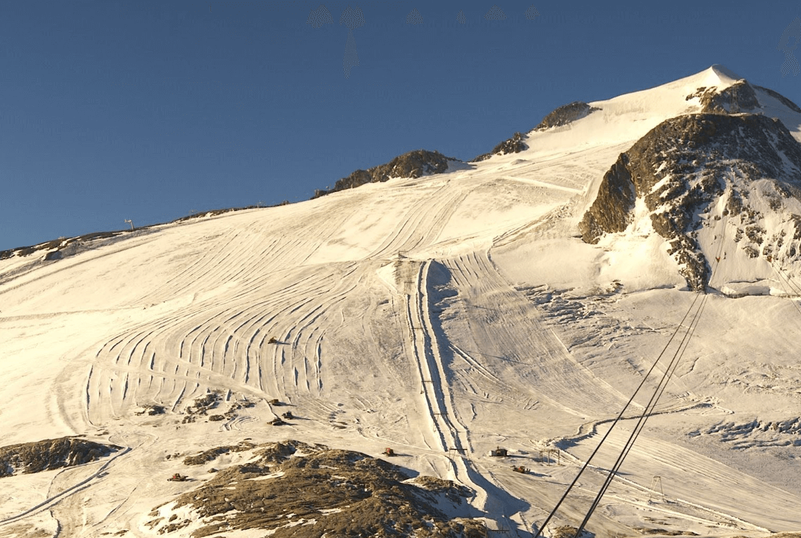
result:
[[[481,520],[445,513],[466,507],[471,494],[449,480],[410,480],[396,465],[360,452],[287,440],[259,445],[248,463],[223,468],[154,508],[143,528],[195,537],[247,529],[276,538],[485,536]]]

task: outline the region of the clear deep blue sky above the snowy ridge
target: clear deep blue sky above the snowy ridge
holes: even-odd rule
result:
[[[321,3],[333,23],[307,24]],[[468,160],[557,106],[714,63],[801,104],[778,49],[799,2],[493,5],[0,2],[0,250],[302,201],[411,149]]]

